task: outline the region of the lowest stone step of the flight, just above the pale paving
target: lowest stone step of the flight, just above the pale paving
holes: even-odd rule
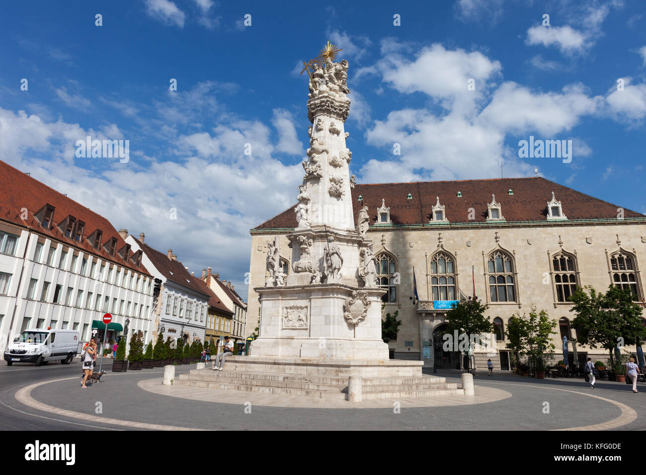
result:
[[[287,394],[290,396],[317,397],[318,399],[346,399],[343,392],[318,391],[297,388],[283,388],[276,386],[255,386],[247,384],[230,384],[215,383],[211,381],[191,381],[189,379],[179,379],[176,381],[179,386],[190,386],[194,388],[213,388],[234,390],[243,392],[258,392],[264,394]],[[409,391],[395,392],[366,392],[362,395],[363,399],[393,399],[398,397],[433,397],[433,396],[450,396],[454,394],[464,394],[462,389],[420,389]]]

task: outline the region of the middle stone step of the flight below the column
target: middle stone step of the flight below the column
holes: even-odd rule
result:
[[[222,372],[224,373],[224,372]],[[278,379],[250,379],[225,374],[182,374],[180,379],[186,381],[206,381],[208,383],[226,383],[230,385],[250,385],[250,386],[267,386],[272,388],[294,388],[303,390],[330,391],[330,392],[347,392],[348,383],[313,383],[311,381],[299,380],[278,380]],[[397,391],[415,391],[430,389],[455,389],[455,383],[438,383],[427,379],[426,381],[415,381],[406,383],[390,383],[388,381],[379,381],[378,383],[364,382],[362,385],[363,392],[397,392]]]

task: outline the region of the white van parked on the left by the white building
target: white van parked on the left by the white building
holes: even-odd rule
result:
[[[8,366],[14,363],[36,363],[40,366],[49,361],[70,364],[78,352],[78,330],[27,328],[8,344],[5,361]]]

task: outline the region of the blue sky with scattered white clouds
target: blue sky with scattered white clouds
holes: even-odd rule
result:
[[[3,2],[0,160],[245,297],[248,231],[302,180],[298,72],[326,41],[350,65],[357,182],[496,178],[502,160],[646,213],[645,32],[641,0]],[[87,135],[129,140],[129,162],[77,158]],[[519,158],[529,136],[572,140],[572,162]]]

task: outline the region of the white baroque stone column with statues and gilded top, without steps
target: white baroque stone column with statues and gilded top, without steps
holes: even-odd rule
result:
[[[260,294],[260,336],[253,356],[386,359],[381,296],[366,229],[355,230],[344,131],[349,114],[348,61],[328,45],[305,65],[309,75],[309,148],[298,187],[298,226],[289,238],[292,269],[280,267],[278,238],[269,243]]]

